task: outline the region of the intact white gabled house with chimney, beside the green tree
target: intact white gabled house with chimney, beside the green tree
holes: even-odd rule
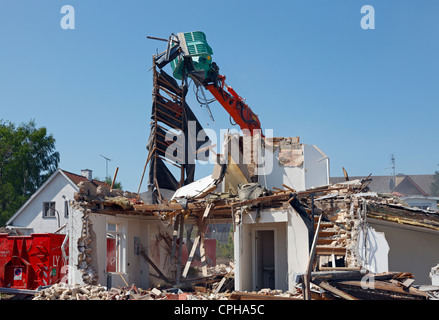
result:
[[[8,229],[24,235],[53,233],[62,229],[70,215],[69,200],[79,190],[81,181],[90,180],[95,186],[105,184],[93,180],[92,171],[85,169],[81,175],[57,169],[28,201],[6,222]],[[65,233],[65,230],[60,230]]]

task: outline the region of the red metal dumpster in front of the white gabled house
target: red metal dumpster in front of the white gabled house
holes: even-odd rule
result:
[[[34,290],[61,280],[64,238],[52,233],[0,234],[0,287]]]

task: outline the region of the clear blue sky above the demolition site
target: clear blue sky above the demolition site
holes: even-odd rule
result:
[[[263,129],[318,146],[332,176],[342,167],[351,176],[391,174],[391,154],[397,173],[438,169],[438,1],[163,3],[2,0],[0,118],[46,127],[65,170],[104,177],[100,155],[110,158],[109,175],[119,167],[124,189],[137,191],[149,135],[148,70],[164,50],[146,36],[201,30]],[[74,30],[60,26],[63,5],[75,9]],[[375,9],[373,30],[360,26],[364,5]],[[207,124],[192,92],[205,127],[230,127],[218,103]]]

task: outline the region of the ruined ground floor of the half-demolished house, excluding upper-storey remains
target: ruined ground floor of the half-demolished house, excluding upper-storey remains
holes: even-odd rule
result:
[[[430,297],[412,285],[413,274],[389,271],[387,233],[375,227],[377,220],[396,220],[434,230],[437,216],[409,216],[410,210],[394,198],[366,192],[367,181],[268,190],[258,182],[227,179],[231,172],[236,179],[238,170],[232,161],[216,165],[211,176],[177,189],[175,197],[160,203],[147,203],[135,193],[93,190],[84,183],[75,195],[69,228],[69,241],[77,244],[70,247],[69,282],[219,286],[232,274],[230,299]],[[233,270],[219,274],[211,272],[206,252],[206,226],[216,223],[231,223],[234,243]],[[197,231],[186,259],[182,252],[189,238],[182,226]],[[117,250],[109,257],[112,239]],[[191,268],[197,250],[199,269]]]

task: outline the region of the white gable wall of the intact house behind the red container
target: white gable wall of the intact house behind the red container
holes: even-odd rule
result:
[[[11,225],[30,228],[30,233],[55,232],[59,227],[67,223],[65,217],[64,202],[62,197],[72,199],[76,192],[71,183],[66,183],[66,178],[57,174],[54,179],[32,198],[23,210],[12,220]],[[43,218],[43,202],[55,201],[55,217]],[[58,220],[59,219],[59,220]],[[61,233],[65,231],[62,230]]]

